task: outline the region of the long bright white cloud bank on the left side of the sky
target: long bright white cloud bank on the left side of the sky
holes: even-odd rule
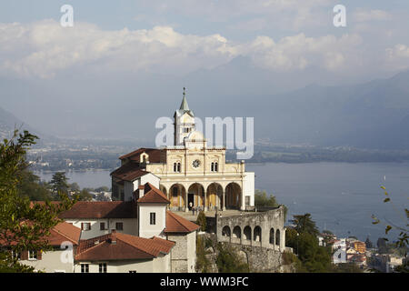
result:
[[[182,35],[169,26],[107,31],[87,23],[62,27],[54,20],[0,25],[0,72],[20,76],[49,78],[75,65],[129,71],[160,66],[183,74],[235,55],[222,35]]]

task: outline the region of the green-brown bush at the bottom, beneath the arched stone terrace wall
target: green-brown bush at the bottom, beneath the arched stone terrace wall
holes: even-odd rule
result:
[[[219,273],[248,273],[249,266],[242,262],[235,249],[228,244],[218,243],[216,265]]]

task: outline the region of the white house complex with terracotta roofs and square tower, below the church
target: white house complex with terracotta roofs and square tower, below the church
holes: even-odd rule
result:
[[[80,201],[62,213],[60,218],[81,230],[75,272],[195,272],[199,226],[167,210],[169,203],[161,190],[146,183],[131,201]],[[146,246],[160,252],[149,253]],[[122,251],[129,256],[120,256]]]

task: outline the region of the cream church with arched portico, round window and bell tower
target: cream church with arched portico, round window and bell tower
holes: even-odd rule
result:
[[[111,173],[113,200],[132,200],[149,182],[167,196],[172,211],[252,208],[254,172],[245,171],[243,160],[227,162],[225,147],[207,145],[195,128],[185,88],[174,125],[174,146],[139,148],[119,157],[121,166]]]

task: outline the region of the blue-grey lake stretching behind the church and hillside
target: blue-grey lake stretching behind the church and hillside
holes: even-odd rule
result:
[[[399,226],[405,224],[409,198],[409,163],[248,164],[255,172],[255,188],[274,194],[288,207],[287,219],[310,213],[320,230],[337,236],[384,236],[384,225],[372,225],[374,214]],[[39,174],[51,180],[52,174]],[[109,171],[68,172],[69,182],[81,187],[111,187]],[[384,204],[385,186],[394,205]],[[397,237],[391,232],[390,239]]]

